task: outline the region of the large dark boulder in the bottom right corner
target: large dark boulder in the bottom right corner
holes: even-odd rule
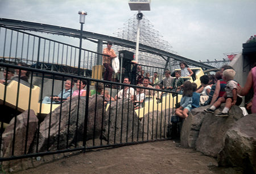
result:
[[[246,115],[226,132],[218,165],[240,166],[244,173],[256,173],[256,114]]]

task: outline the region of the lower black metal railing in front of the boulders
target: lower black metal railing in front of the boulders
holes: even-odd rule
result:
[[[0,84],[0,146],[3,152],[0,161],[170,138],[171,116],[174,103],[178,101],[171,92],[115,82],[106,84],[102,80],[6,63],[0,63],[0,67],[6,71],[14,68],[31,72],[28,82],[18,76],[16,81]],[[41,77],[34,77],[35,73],[40,73]],[[94,82],[96,88],[101,82],[113,98],[125,86],[129,87],[128,98],[131,94],[135,96],[137,88],[149,90],[149,93],[151,90],[163,92],[164,97],[156,101],[154,96],[146,96],[141,109],[135,110],[134,103],[125,97],[126,93],[117,101],[106,102],[106,90],[103,96],[96,93],[89,97],[92,91],[86,85],[84,97],[69,96],[67,101],[45,104],[42,102],[47,85],[45,76],[52,76],[50,96],[55,95],[56,89],[58,93],[65,90],[65,80],[69,78],[71,81],[84,80],[86,84]],[[61,80],[55,80],[56,77]],[[118,90],[106,88],[106,85],[117,85]]]

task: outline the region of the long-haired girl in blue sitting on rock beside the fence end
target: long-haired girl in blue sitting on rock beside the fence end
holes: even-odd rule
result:
[[[192,109],[193,87],[190,81],[185,81],[183,84],[183,94],[180,100],[180,107],[176,109],[175,114],[186,119],[189,111]]]

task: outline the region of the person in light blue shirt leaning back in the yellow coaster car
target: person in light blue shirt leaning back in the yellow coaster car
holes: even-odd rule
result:
[[[72,82],[71,79],[68,79],[66,82],[65,82],[65,89],[60,92],[60,94],[57,96],[57,97],[44,97],[42,103],[44,104],[51,104],[51,100],[52,100],[52,103],[53,104],[57,104],[57,103],[60,103],[61,101],[61,97],[62,98],[68,98],[70,96],[72,96],[73,94],[73,88],[74,86],[74,82]]]

